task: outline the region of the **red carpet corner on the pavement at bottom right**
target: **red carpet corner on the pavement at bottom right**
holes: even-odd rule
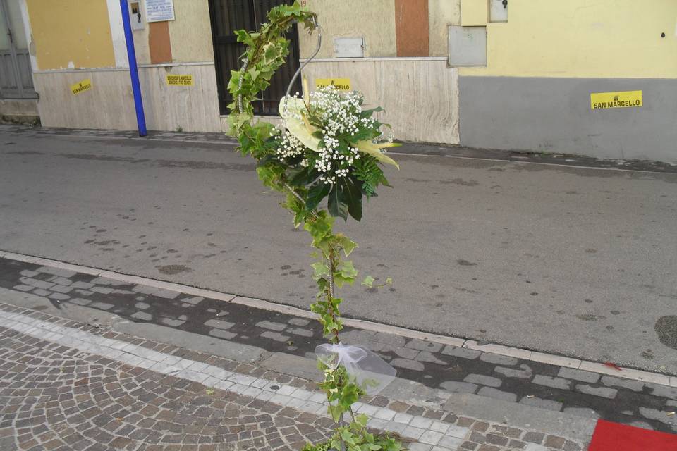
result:
[[[677,435],[599,420],[589,451],[677,451]]]

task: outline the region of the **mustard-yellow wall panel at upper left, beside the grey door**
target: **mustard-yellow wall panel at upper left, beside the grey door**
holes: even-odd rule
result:
[[[115,66],[104,0],[27,0],[39,70]]]

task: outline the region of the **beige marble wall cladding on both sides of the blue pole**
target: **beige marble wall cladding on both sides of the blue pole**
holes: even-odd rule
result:
[[[168,86],[167,74],[193,75],[193,86]],[[73,95],[70,86],[92,80],[92,89]],[[219,104],[213,64],[139,68],[149,130],[219,132]],[[136,116],[128,70],[35,73],[42,125],[134,130]]]

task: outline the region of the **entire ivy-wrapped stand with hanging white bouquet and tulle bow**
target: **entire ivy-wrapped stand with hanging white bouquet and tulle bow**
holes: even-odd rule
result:
[[[385,150],[397,144],[383,132],[389,126],[373,117],[380,109],[362,108],[361,94],[332,87],[310,93],[305,80],[303,97],[297,93],[281,100],[281,126],[255,123],[251,102],[285,62],[289,45],[286,32],[293,23],[302,24],[310,32],[317,26],[315,14],[298,1],[273,8],[268,20],[257,32],[237,32],[238,41],[247,50],[243,68],[233,70],[228,83],[234,99],[229,105],[229,122],[231,135],[238,138],[238,150],[257,160],[257,175],[264,185],[286,195],[282,206],[294,215],[296,227],[303,225],[310,233],[312,246],[317,249],[317,261],[312,264],[317,301],[310,309],[318,314],[329,340],[329,344],[318,347],[318,366],[324,373],[319,387],[327,394],[329,414],[338,427],[329,441],[308,444],[304,451],[400,451],[403,448],[396,438],[369,433],[367,416],[353,412],[352,405],[360,396],[379,383],[384,385],[394,371],[390,376],[385,369],[375,378],[373,370],[360,373],[360,360],[365,358],[372,359],[376,366],[391,368],[368,350],[341,344],[343,321],[338,307],[342,299],[335,291],[357,280],[358,270],[344,258],[358,245],[333,230],[336,217],[360,221],[362,198],[376,196],[380,185],[389,186],[383,165],[398,165]],[[365,277],[362,285],[373,287],[374,278]],[[346,416],[348,424],[344,422]]]

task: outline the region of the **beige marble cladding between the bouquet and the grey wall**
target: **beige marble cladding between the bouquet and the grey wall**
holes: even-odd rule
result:
[[[458,144],[458,71],[444,59],[312,61],[303,73],[311,87],[315,78],[350,78],[365,106],[384,108],[379,121],[398,140]]]

